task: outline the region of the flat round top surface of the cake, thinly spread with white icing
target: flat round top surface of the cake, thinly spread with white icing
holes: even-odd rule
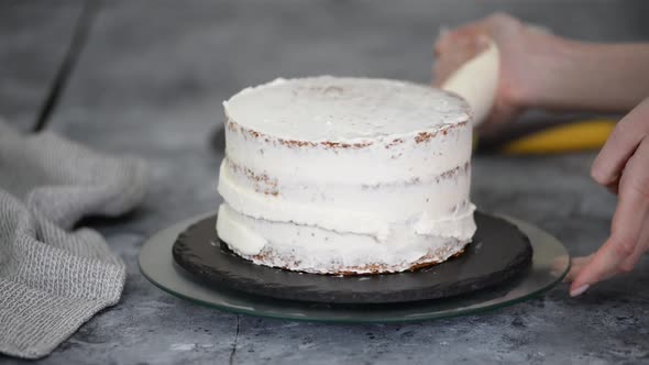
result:
[[[428,86],[330,76],[277,79],[244,89],[223,106],[244,128],[297,141],[402,135],[471,118],[464,100]]]

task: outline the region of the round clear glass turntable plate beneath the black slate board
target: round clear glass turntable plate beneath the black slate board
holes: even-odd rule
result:
[[[556,237],[529,223],[503,217],[529,237],[534,256],[524,275],[496,287],[466,296],[391,305],[334,306],[279,300],[206,284],[174,262],[172,246],[177,235],[210,214],[213,213],[176,223],[152,236],[140,251],[140,269],[146,279],[176,297],[233,313],[338,323],[415,322],[468,316],[539,296],[559,284],[570,269],[568,251]]]

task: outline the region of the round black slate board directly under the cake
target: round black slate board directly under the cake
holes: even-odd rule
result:
[[[334,276],[255,265],[239,257],[216,232],[216,215],[178,235],[174,259],[212,285],[277,299],[336,305],[377,305],[441,299],[504,283],[530,266],[527,236],[507,221],[476,212],[477,231],[465,252],[415,272]]]

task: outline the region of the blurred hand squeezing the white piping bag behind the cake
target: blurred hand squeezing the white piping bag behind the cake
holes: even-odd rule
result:
[[[549,49],[544,36],[506,14],[493,14],[447,32],[435,45],[433,84],[441,86],[466,60],[485,51],[490,38],[493,40],[501,56],[499,80],[483,130],[497,129],[531,104],[532,90],[539,84],[543,65],[542,57],[538,57],[539,49]]]

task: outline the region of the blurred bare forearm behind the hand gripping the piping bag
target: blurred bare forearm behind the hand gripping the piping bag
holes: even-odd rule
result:
[[[536,36],[536,35],[534,35]],[[597,44],[538,35],[527,95],[547,110],[627,112],[649,96],[649,43]]]

